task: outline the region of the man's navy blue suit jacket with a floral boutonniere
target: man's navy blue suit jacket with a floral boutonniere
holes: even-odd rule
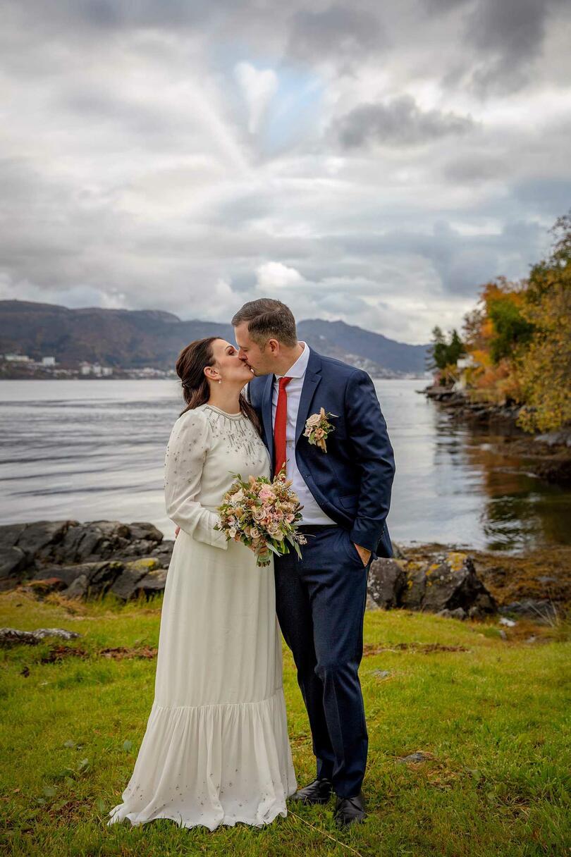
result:
[[[310,347],[309,345],[307,346]],[[274,375],[249,381],[249,401],[263,425],[273,463]],[[305,421],[325,408],[334,431],[327,452],[304,437]],[[394,479],[394,451],[370,376],[363,369],[324,357],[310,348],[295,434],[298,470],[324,512],[350,530],[353,542],[377,556],[393,556],[386,518]],[[272,464],[273,476],[273,464]]]

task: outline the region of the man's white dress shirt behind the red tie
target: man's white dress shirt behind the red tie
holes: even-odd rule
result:
[[[304,477],[298,470],[296,462],[295,438],[296,438],[296,423],[298,422],[299,399],[301,398],[302,387],[304,387],[304,376],[307,364],[310,359],[310,348],[305,342],[300,342],[304,346],[304,351],[299,355],[291,369],[285,372],[287,378],[292,381],[285,387],[287,393],[287,416],[285,418],[285,476],[292,480],[292,488],[298,494],[299,500],[304,506],[302,509],[302,524],[334,524],[334,520],[329,518],[322,507],[316,502],[310,489],[304,481]],[[272,391],[272,431],[275,425],[275,411],[278,406],[279,394],[279,379],[282,375],[275,375]],[[317,409],[319,410],[319,409]],[[310,415],[308,414],[308,417]],[[303,435],[299,439],[300,443],[309,443]]]

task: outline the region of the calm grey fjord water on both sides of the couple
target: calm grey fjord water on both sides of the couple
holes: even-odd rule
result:
[[[415,393],[427,381],[375,383],[394,446],[394,541],[571,543],[568,489],[492,455],[495,437]],[[0,381],[0,522],[152,521],[171,538],[163,461],[182,408],[174,380]]]

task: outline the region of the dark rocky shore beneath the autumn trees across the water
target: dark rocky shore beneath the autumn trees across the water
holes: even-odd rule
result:
[[[490,444],[490,452],[521,458],[526,469],[547,482],[571,483],[571,426],[554,431],[529,434],[516,424],[520,405],[486,405],[471,402],[464,393],[448,387],[430,386],[424,393],[449,411],[453,420],[462,420],[490,428],[490,434],[502,435],[501,442]]]

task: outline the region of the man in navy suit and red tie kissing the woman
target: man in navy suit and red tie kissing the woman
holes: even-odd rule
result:
[[[362,369],[298,342],[292,312],[269,297],[231,321],[239,357],[253,370],[248,396],[263,426],[272,476],[285,472],[301,500],[307,544],[274,557],[276,612],[292,649],[310,718],[317,776],[292,800],[336,794],[340,826],[363,821],[367,726],[358,667],[370,563],[393,555],[387,518],[394,452],[375,387]],[[304,436],[324,408],[326,450]]]

